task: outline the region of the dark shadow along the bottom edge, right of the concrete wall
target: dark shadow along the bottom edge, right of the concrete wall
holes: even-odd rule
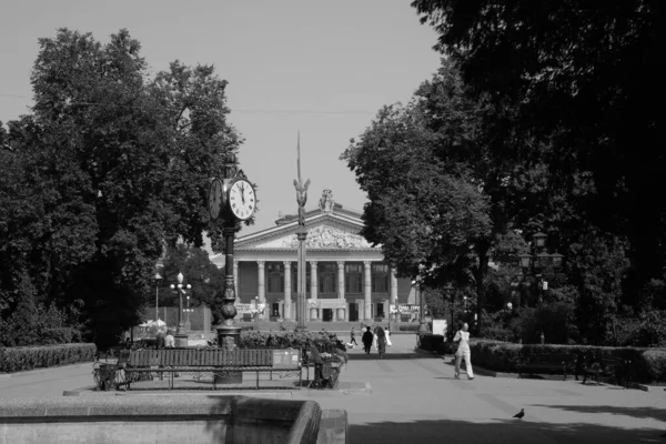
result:
[[[455,402],[455,401],[451,401]],[[353,421],[353,418],[352,418]],[[350,444],[639,444],[666,443],[664,428],[619,428],[596,424],[528,421],[476,423],[455,420],[382,422],[350,426]]]

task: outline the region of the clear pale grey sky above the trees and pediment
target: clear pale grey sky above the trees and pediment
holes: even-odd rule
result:
[[[434,31],[411,0],[92,1],[0,0],[0,121],[26,113],[38,38],[58,28],[107,42],[121,28],[142,44],[151,71],[181,60],[214,64],[229,81],[230,121],[245,139],[241,167],[259,185],[256,224],[295,213],[296,132],[306,208],[323,189],[361,211],[366,201],[339,160],[384,104],[407,101],[440,64]]]

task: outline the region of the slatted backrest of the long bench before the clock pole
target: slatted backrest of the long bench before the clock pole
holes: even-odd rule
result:
[[[153,365],[169,366],[287,366],[293,363],[294,369],[300,365],[300,351],[294,359],[292,355],[280,359],[280,365],[274,360],[275,354],[284,354],[281,350],[196,350],[196,349],[162,349],[162,350],[134,350],[130,353],[128,365],[133,367],[148,367]],[[284,365],[282,365],[284,363]]]

